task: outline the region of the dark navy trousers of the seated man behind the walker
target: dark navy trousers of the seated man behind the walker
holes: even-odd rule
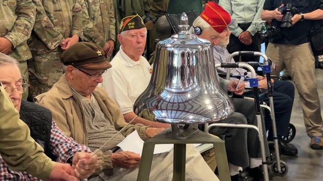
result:
[[[285,80],[276,80],[274,82],[274,110],[275,121],[278,136],[286,136],[288,133],[289,122],[294,103],[295,87],[292,82]],[[244,94],[246,97],[253,98],[253,92],[249,91]],[[268,106],[270,102],[268,98],[263,100]],[[265,113],[265,125],[268,132],[268,140],[273,140],[272,119],[269,113]]]

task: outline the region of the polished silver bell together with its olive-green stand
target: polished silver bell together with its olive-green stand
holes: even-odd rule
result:
[[[145,140],[137,180],[149,180],[155,144],[174,144],[173,180],[185,180],[189,143],[212,143],[220,179],[229,180],[224,141],[199,131],[197,124],[227,118],[233,103],[216,79],[210,42],[189,34],[185,13],[180,22],[178,35],[157,44],[149,85],[134,104],[136,114],[148,111],[156,121],[172,124]]]

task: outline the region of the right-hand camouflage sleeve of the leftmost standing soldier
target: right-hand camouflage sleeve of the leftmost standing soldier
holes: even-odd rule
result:
[[[32,0],[17,0],[17,20],[12,30],[5,36],[15,47],[27,41],[35,23],[35,6]]]

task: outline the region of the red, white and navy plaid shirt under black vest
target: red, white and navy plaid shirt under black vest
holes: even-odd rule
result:
[[[52,154],[56,155],[58,158],[56,161],[66,163],[69,161],[76,152],[84,151],[90,153],[91,150],[82,144],[78,144],[73,140],[73,138],[68,138],[56,125],[55,121],[52,120],[51,132],[50,132],[50,145]],[[10,181],[23,181],[23,180],[41,180],[33,177],[29,173],[23,171],[13,171],[11,170],[4,159],[0,156],[0,180],[10,180]]]

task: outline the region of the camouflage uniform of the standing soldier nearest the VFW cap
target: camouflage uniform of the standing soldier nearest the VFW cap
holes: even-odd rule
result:
[[[112,0],[85,0],[83,6],[84,41],[102,48],[105,42],[116,42],[116,20]]]

